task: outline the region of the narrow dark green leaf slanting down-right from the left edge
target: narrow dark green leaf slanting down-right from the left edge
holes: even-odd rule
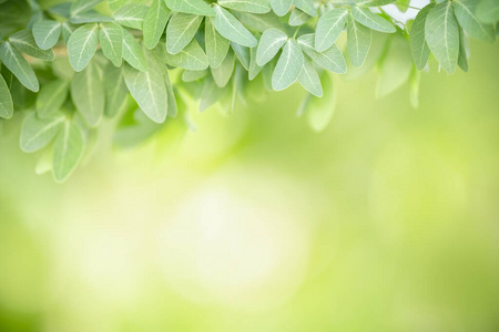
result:
[[[22,85],[32,92],[38,92],[40,85],[33,70],[24,56],[7,41],[0,46],[0,59]]]

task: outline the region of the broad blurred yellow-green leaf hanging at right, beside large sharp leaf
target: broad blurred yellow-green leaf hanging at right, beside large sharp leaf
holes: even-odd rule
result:
[[[413,65],[407,41],[401,35],[395,35],[379,64],[376,97],[384,97],[403,85],[409,79]]]

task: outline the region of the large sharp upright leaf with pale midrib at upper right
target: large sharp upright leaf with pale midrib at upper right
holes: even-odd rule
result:
[[[459,27],[450,1],[430,10],[425,32],[426,42],[437,61],[446,72],[454,73],[459,56]]]

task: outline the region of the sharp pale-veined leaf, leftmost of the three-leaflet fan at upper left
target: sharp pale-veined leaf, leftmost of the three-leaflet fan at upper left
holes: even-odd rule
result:
[[[71,66],[81,72],[95,54],[99,44],[99,25],[85,24],[78,28],[68,41],[68,54]]]

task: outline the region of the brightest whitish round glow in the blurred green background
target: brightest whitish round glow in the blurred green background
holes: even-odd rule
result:
[[[162,231],[172,287],[191,301],[230,307],[274,307],[292,295],[306,269],[307,230],[289,208],[264,204],[267,195],[259,204],[207,186],[186,200]]]

